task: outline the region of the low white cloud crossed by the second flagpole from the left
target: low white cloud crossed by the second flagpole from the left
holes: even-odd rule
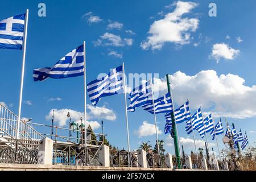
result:
[[[59,126],[66,126],[69,122],[69,118],[67,117],[67,114],[69,112],[72,121],[76,122],[76,123],[81,123],[80,118],[82,117],[82,121],[84,122],[84,113],[83,112],[79,112],[76,110],[71,110],[71,109],[52,109],[51,111],[49,111],[49,113],[46,115],[46,119],[47,120],[51,120],[52,119],[52,112],[54,110],[54,122],[58,122]],[[88,116],[88,119],[90,118],[90,116]],[[98,129],[101,127],[100,123],[98,123],[97,121],[86,121],[86,125],[90,125],[92,126],[92,129]]]

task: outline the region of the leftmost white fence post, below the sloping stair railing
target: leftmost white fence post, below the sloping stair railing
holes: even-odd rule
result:
[[[52,165],[53,140],[48,137],[39,141],[38,146],[38,164]]]

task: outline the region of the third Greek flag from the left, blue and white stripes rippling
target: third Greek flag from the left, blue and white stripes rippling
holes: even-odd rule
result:
[[[123,92],[123,70],[122,65],[111,69],[109,74],[87,84],[87,92],[90,101],[96,105],[100,98],[112,96]]]

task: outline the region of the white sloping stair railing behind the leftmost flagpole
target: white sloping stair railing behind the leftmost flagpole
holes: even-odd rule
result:
[[[0,104],[0,133],[2,137],[16,138],[18,116]],[[43,139],[43,135],[20,119],[19,138],[28,140]]]

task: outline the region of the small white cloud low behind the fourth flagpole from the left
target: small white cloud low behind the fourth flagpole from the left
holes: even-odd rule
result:
[[[162,134],[162,131],[157,127],[158,134]],[[155,125],[148,123],[147,121],[143,121],[142,125],[139,126],[139,129],[135,131],[135,134],[138,135],[139,138],[147,137],[155,134]]]

